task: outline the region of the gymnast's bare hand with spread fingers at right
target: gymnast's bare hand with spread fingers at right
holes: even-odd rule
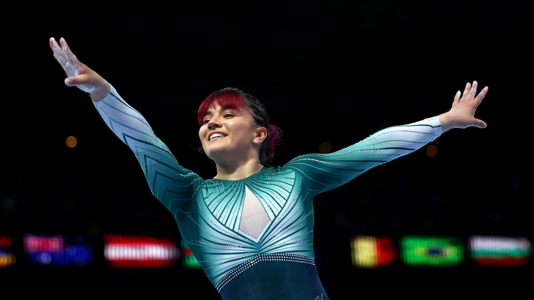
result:
[[[460,94],[460,91],[456,93],[451,110],[438,116],[439,122],[442,124],[442,133],[451,128],[487,127],[483,120],[475,118],[475,111],[486,97],[488,88],[483,88],[475,97],[477,87],[476,81],[473,82],[473,85],[467,83],[463,94]],[[460,95],[462,95],[461,98]]]

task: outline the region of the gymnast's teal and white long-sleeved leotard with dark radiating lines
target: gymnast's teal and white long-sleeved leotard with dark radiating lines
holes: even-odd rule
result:
[[[334,153],[264,167],[241,180],[204,180],[177,163],[114,88],[95,107],[136,155],[152,194],[175,217],[182,238],[223,299],[327,299],[314,263],[314,196],[442,133],[434,117],[386,128]],[[259,234],[241,226],[245,194],[259,199],[268,216]]]

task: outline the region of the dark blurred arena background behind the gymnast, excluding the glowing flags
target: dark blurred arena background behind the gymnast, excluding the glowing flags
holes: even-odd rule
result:
[[[315,199],[318,272],[332,299],[519,293],[518,269],[410,268],[398,261],[357,269],[350,238],[378,235],[524,236],[534,239],[528,119],[528,1],[174,1],[70,3],[5,10],[0,235],[25,233],[167,237],[175,220],[152,196],[136,159],[100,119],[88,95],[67,88],[48,39],[64,37],[82,63],[139,110],[184,167],[215,176],[191,149],[196,110],[214,90],[236,87],[264,102],[284,131],[275,165],[322,142],[337,151],[387,126],[445,113],[469,81],[489,86],[476,117]],[[55,5],[55,6],[52,6]],[[65,146],[74,135],[78,145]],[[17,252],[17,253],[19,253]],[[22,253],[22,252],[20,252]],[[100,258],[98,256],[101,256]],[[90,267],[0,269],[6,291],[152,291],[218,299],[202,270]],[[350,296],[347,296],[350,295]]]

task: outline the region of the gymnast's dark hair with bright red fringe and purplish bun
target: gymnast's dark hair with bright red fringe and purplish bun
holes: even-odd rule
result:
[[[198,108],[199,125],[202,125],[204,115],[206,115],[209,108],[213,108],[216,103],[231,109],[247,108],[256,126],[267,129],[267,138],[261,143],[259,150],[259,162],[266,167],[271,165],[271,159],[275,156],[275,147],[280,145],[282,140],[282,130],[278,126],[269,123],[269,117],[267,117],[267,113],[258,99],[236,88],[224,88],[223,90],[212,92],[202,101]],[[202,152],[202,144],[197,150]]]

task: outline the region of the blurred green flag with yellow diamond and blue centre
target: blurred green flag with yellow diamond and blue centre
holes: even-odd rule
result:
[[[399,244],[403,263],[412,267],[452,267],[464,260],[460,238],[407,235]]]

